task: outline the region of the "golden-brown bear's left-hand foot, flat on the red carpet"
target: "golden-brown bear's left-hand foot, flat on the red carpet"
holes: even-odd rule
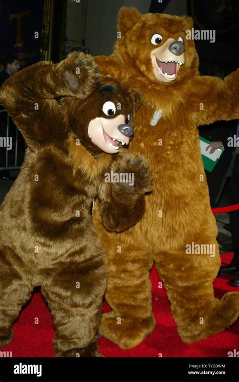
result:
[[[121,349],[131,349],[139,345],[155,327],[153,315],[138,320],[121,317],[121,324],[117,324],[119,318],[113,312],[102,314],[99,334]]]

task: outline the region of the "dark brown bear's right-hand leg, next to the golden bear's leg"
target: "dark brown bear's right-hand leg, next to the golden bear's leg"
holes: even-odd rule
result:
[[[94,241],[90,245],[94,249]],[[41,287],[56,330],[55,356],[100,357],[95,336],[106,289],[104,257],[99,251],[92,259],[80,252],[75,256],[77,249],[72,252],[72,256],[68,253],[70,260],[50,268],[50,278]]]

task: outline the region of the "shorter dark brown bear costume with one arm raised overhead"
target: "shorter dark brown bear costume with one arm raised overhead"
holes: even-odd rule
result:
[[[123,152],[141,96],[102,77],[92,56],[74,52],[9,78],[0,102],[28,146],[0,208],[0,347],[12,340],[21,307],[40,285],[56,329],[55,355],[99,356],[107,271],[92,201],[99,196],[109,230],[124,230],[144,213],[144,193],[152,189],[147,162]],[[134,173],[134,184],[106,183],[111,171]]]

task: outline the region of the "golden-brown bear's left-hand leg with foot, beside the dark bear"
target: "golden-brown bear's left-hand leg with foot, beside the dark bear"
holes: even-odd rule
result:
[[[111,241],[112,242],[112,241]],[[112,308],[102,314],[99,333],[122,349],[139,345],[155,327],[151,306],[151,283],[149,253],[136,248],[135,243],[126,246],[120,239],[124,253],[107,252],[108,282],[105,299]],[[132,250],[132,248],[134,248]]]

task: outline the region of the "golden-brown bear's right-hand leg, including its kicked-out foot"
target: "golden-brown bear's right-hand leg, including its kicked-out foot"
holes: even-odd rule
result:
[[[165,258],[158,257],[156,266],[182,341],[193,343],[206,339],[237,320],[239,293],[225,293],[221,300],[214,297],[213,279],[220,266],[219,252],[211,257],[177,249],[174,256],[167,253]]]

